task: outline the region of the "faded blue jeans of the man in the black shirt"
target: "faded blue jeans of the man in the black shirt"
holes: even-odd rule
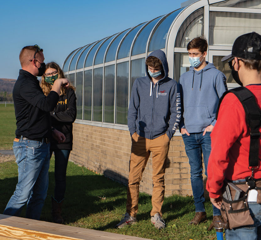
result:
[[[26,218],[40,219],[48,189],[50,143],[23,140],[13,142],[18,165],[18,183],[3,214],[19,216],[27,203]]]

